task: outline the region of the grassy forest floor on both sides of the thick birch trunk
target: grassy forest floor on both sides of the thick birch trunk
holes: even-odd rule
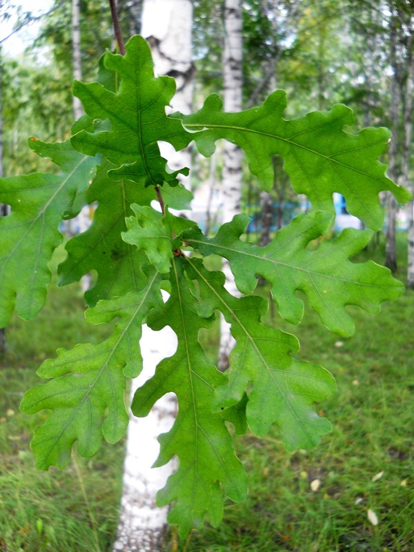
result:
[[[399,237],[397,277],[404,281],[405,244]],[[381,263],[382,246],[355,260],[366,257]],[[177,544],[170,531],[169,551],[414,550],[414,293],[384,304],[377,317],[357,308],[352,312],[356,331],[348,339],[329,333],[311,309],[298,327],[275,315],[275,324],[299,337],[299,356],[322,364],[337,379],[337,395],[318,407],[333,422],[333,433],[314,451],[293,454],[284,451],[277,430],[266,439],[236,437],[249,478],[247,502],[227,502],[221,526],[194,531],[186,543]],[[8,328],[8,354],[0,370],[0,551],[111,549],[124,443],[105,444],[90,460],[74,455],[64,471],[38,472],[29,442],[44,413],[19,413],[43,359],[59,346],[108,335],[108,326],[90,326],[82,313],[79,288],[57,292],[53,282],[41,315],[31,322],[15,317]],[[213,357],[217,332],[203,339]]]

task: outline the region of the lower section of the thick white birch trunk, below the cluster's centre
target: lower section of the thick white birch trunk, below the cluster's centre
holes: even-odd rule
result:
[[[144,326],[140,342],[144,368],[132,381],[130,397],[146,382],[155,367],[177,348],[177,337],[169,328],[153,332]],[[168,508],[157,508],[157,491],[165,484],[175,463],[161,468],[151,468],[159,453],[157,436],[166,433],[175,420],[175,395],[161,397],[146,418],[130,415],[124,464],[124,489],[121,499],[117,540],[117,552],[155,552],[164,549]]]

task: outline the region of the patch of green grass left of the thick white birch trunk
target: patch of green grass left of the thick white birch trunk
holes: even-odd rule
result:
[[[52,270],[62,255],[59,250]],[[7,329],[8,352],[0,366],[2,552],[103,552],[115,538],[123,444],[106,444],[90,460],[74,455],[75,464],[64,471],[40,472],[34,468],[29,442],[46,414],[19,413],[23,393],[42,381],[35,370],[43,359],[55,356],[58,347],[97,342],[108,335],[108,326],[86,324],[83,310],[79,286],[57,290],[54,279],[37,319],[14,317]]]

